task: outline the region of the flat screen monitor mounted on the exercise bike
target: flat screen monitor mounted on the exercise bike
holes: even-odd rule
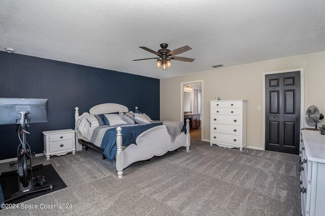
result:
[[[20,124],[20,111],[29,123],[48,122],[48,99],[0,98],[0,125]]]

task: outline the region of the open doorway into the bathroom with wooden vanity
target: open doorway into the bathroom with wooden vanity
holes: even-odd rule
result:
[[[181,121],[189,120],[189,130],[192,139],[202,140],[203,117],[203,81],[181,83]]]

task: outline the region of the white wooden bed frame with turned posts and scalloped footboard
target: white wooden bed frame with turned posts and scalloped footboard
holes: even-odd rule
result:
[[[137,107],[136,107],[137,109]],[[79,116],[79,108],[75,108],[75,120],[76,122],[85,115],[89,114],[106,114],[114,112],[128,112],[126,106],[116,103],[104,103],[93,106],[89,113],[83,113]],[[136,162],[143,161],[152,158],[153,156],[161,156],[169,151],[174,151],[179,147],[186,147],[186,152],[189,151],[190,135],[189,135],[189,120],[186,119],[186,134],[181,133],[176,137],[174,142],[171,141],[165,125],[159,125],[149,130],[144,131],[137,137],[137,145],[131,144],[125,149],[122,148],[122,128],[116,128],[116,169],[118,178],[122,178],[123,169],[128,165]],[[76,148],[80,149],[79,139],[83,139],[90,142],[88,139],[83,137],[81,133],[76,129]],[[81,146],[82,148],[82,146]],[[80,149],[81,150],[81,149]]]

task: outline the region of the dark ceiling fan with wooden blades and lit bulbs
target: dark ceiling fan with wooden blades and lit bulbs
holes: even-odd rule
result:
[[[158,50],[157,52],[154,51],[154,50],[151,50],[151,49],[149,49],[147,47],[140,47],[141,49],[144,49],[145,51],[156,54],[159,57],[135,59],[133,61],[140,61],[140,60],[147,60],[147,59],[157,59],[157,61],[156,61],[157,68],[162,67],[163,70],[167,70],[167,68],[170,68],[172,66],[171,59],[177,60],[177,61],[186,61],[186,62],[193,62],[195,60],[193,58],[175,56],[175,55],[178,55],[178,54],[181,54],[181,53],[184,53],[186,51],[191,50],[192,48],[190,48],[189,46],[180,47],[180,48],[178,48],[176,50],[172,50],[172,51],[167,49],[168,44],[165,44],[165,43],[160,44],[160,47],[161,47],[161,49]]]

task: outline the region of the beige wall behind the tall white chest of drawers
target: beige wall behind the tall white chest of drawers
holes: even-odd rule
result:
[[[304,111],[316,105],[325,113],[325,52],[218,68],[160,80],[160,119],[180,121],[181,83],[203,80],[203,139],[210,140],[210,103],[221,99],[246,99],[247,146],[262,148],[262,74],[304,68]],[[262,109],[257,110],[257,105]],[[321,120],[320,124],[325,124]]]

